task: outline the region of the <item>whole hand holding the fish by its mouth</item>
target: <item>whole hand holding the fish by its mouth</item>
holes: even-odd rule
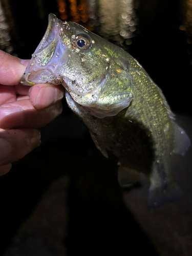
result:
[[[40,145],[38,128],[62,112],[61,85],[19,83],[28,62],[0,50],[0,176]]]

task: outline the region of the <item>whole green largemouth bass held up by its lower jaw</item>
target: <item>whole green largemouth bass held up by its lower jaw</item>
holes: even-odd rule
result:
[[[184,155],[190,140],[161,89],[129,53],[51,13],[21,82],[62,84],[98,150],[118,159],[119,184],[131,186],[141,172],[150,179],[148,208],[182,197],[170,158]]]

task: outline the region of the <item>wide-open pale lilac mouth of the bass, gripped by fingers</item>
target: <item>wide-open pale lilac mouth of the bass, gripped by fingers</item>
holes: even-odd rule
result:
[[[71,52],[68,47],[69,40],[63,41],[63,36],[70,33],[66,24],[54,14],[49,15],[46,33],[32,54],[32,59],[22,77],[21,82],[24,85],[62,83],[59,67],[69,61]]]

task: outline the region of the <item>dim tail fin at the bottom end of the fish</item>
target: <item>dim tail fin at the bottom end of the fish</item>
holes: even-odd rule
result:
[[[166,203],[173,203],[183,198],[180,187],[175,182],[168,182],[162,187],[150,187],[148,191],[147,207],[157,208]]]

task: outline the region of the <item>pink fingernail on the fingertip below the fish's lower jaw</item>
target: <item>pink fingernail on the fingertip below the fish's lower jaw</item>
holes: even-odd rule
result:
[[[57,91],[54,86],[43,87],[36,96],[36,107],[38,109],[46,108],[57,100]]]

